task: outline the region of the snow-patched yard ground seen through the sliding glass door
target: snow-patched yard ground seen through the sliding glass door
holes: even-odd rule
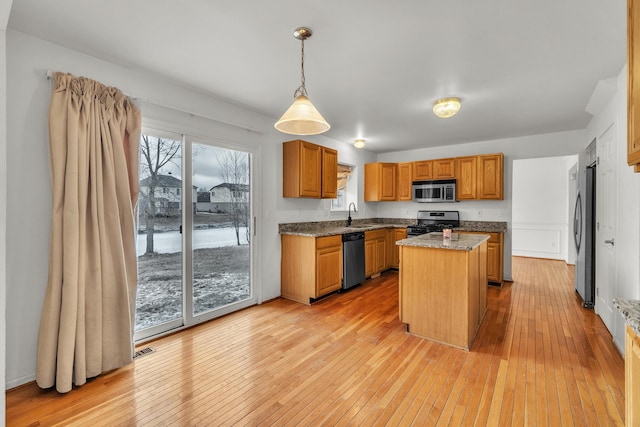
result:
[[[203,313],[249,298],[250,246],[246,239],[243,244],[236,244],[234,228],[225,221],[225,214],[199,213],[195,217],[199,222],[208,222],[204,226],[211,228],[198,229],[196,224],[194,230],[194,313]],[[162,222],[169,221],[163,219]],[[179,228],[168,230],[174,227],[164,227],[164,230],[154,232],[153,254],[144,253],[146,233],[138,234],[138,254],[141,253],[141,240],[143,254],[138,256],[136,330],[182,317],[181,236]],[[200,236],[201,243],[209,247],[197,247],[196,240]],[[216,245],[220,246],[211,247]]]

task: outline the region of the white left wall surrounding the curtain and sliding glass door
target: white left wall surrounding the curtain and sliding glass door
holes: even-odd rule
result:
[[[35,378],[37,334],[47,283],[51,221],[47,135],[51,89],[50,81],[45,77],[47,70],[87,76],[150,101],[141,103],[143,125],[163,130],[188,129],[192,134],[213,137],[222,144],[241,144],[256,152],[254,189],[258,200],[255,210],[258,234],[255,244],[258,255],[255,277],[260,281],[257,293],[261,300],[280,295],[279,223],[346,219],[344,213],[330,212],[328,200],[282,198],[281,142],[293,138],[273,129],[277,118],[265,117],[153,75],[137,73],[13,30],[7,31],[6,58],[6,99],[11,105],[7,112],[7,140],[11,143],[6,147],[6,245],[11,248],[6,255],[5,384],[8,388]],[[283,105],[283,111],[287,107]],[[358,166],[360,175],[362,165],[375,160],[370,152],[326,137],[305,139],[337,149],[339,160]],[[4,172],[5,156],[0,159],[0,172]],[[359,176],[360,182],[362,179]],[[4,180],[0,191],[3,185]],[[5,198],[1,200],[4,204]],[[358,202],[359,206],[364,206],[362,190]],[[375,216],[375,206],[360,209],[360,213]],[[1,215],[0,232],[4,229]]]

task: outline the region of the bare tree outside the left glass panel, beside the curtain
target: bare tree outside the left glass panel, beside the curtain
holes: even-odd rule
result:
[[[142,174],[146,175],[146,178],[142,180],[144,185],[140,185],[141,208],[147,232],[146,253],[151,254],[154,252],[153,232],[157,215],[156,187],[160,171],[168,163],[176,164],[174,159],[180,158],[180,141],[142,135],[140,154]]]

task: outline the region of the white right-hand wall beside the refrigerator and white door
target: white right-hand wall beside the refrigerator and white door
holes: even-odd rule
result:
[[[640,299],[640,173],[627,165],[627,68],[617,77],[613,99],[595,116],[587,127],[587,139],[599,138],[610,126],[616,127],[617,145],[617,230],[615,234],[616,279],[612,284],[614,297]],[[582,160],[582,159],[581,159]],[[584,166],[584,160],[581,165]],[[598,256],[596,252],[596,257]],[[615,316],[613,340],[624,354],[625,322]]]

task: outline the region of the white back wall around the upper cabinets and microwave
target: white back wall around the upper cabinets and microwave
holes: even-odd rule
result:
[[[472,200],[459,203],[443,203],[438,204],[437,207],[433,204],[413,202],[380,202],[378,203],[378,215],[381,217],[415,217],[419,209],[451,209],[460,211],[460,219],[462,220],[505,221],[507,222],[508,230],[504,239],[504,278],[511,280],[513,161],[517,159],[573,155],[583,150],[587,142],[586,132],[584,130],[576,130],[481,141],[453,147],[424,148],[381,154],[378,156],[379,161],[407,162],[420,159],[504,153],[504,200]]]

